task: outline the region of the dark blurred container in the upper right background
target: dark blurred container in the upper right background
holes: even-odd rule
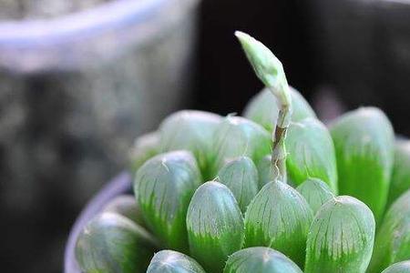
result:
[[[410,1],[312,2],[311,40],[323,82],[350,107],[375,105],[410,135]]]

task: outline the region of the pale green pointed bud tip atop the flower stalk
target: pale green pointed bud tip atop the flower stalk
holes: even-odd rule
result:
[[[243,51],[262,83],[270,87],[282,106],[291,105],[291,95],[281,61],[260,41],[241,31],[235,31]]]

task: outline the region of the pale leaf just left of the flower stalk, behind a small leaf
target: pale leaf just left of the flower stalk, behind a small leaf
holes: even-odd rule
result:
[[[271,136],[262,126],[240,116],[227,116],[213,136],[211,176],[235,157],[251,157],[258,164],[270,153]]]

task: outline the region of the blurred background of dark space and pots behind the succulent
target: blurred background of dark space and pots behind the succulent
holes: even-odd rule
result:
[[[262,86],[234,30],[323,119],[379,106],[410,135],[408,0],[0,0],[2,272],[61,272],[81,208],[164,116],[241,113]]]

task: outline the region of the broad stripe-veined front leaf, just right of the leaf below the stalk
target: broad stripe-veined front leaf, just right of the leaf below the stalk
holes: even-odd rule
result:
[[[334,197],[309,230],[305,273],[364,273],[372,256],[374,216],[354,197]]]

